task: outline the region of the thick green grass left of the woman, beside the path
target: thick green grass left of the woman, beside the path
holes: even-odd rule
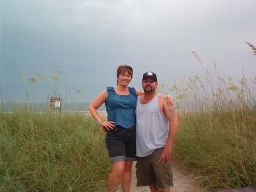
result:
[[[103,191],[110,169],[92,117],[0,112],[0,191]]]

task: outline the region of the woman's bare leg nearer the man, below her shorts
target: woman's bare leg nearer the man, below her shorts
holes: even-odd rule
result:
[[[125,161],[125,170],[122,175],[121,185],[123,192],[129,192],[131,186],[131,167],[133,161]]]

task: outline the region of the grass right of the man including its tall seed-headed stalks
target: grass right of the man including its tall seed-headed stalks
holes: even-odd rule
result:
[[[256,77],[226,82],[216,63],[216,76],[205,71],[204,80],[189,76],[159,90],[176,97],[180,124],[172,158],[209,191],[256,187]]]

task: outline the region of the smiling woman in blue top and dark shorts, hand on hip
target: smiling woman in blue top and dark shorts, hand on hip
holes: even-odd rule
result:
[[[117,69],[117,86],[106,87],[93,100],[89,111],[93,118],[106,130],[106,147],[113,163],[113,172],[108,181],[108,191],[116,191],[121,181],[122,191],[129,192],[131,167],[136,160],[136,117],[137,96],[143,95],[133,87],[127,87],[133,78],[133,68],[121,65]],[[102,121],[97,109],[105,103],[108,121]],[[168,99],[168,104],[172,99]]]

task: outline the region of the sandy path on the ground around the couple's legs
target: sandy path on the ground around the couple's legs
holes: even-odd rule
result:
[[[131,190],[130,192],[150,192],[150,188],[137,187],[135,164],[133,163],[133,173],[131,178]],[[193,181],[193,174],[180,170],[175,166],[172,166],[172,174],[174,176],[174,187],[171,187],[171,192],[203,192],[204,190],[196,189],[195,181]],[[121,186],[119,186],[118,192],[122,192]]]

